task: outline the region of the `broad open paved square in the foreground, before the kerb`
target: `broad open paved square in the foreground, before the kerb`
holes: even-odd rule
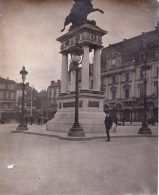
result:
[[[0,126],[2,195],[157,194],[157,137],[70,142],[13,127]]]

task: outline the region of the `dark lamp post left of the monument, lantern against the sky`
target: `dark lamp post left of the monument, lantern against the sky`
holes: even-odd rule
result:
[[[28,127],[24,120],[24,89],[25,89],[25,79],[28,72],[25,70],[25,67],[23,66],[22,70],[20,71],[20,74],[22,75],[22,113],[21,113],[21,121],[19,126],[17,127],[17,130],[28,130]]]

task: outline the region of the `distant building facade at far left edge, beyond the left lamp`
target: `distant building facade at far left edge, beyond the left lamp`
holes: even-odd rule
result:
[[[0,120],[11,122],[16,111],[16,82],[0,77]]]

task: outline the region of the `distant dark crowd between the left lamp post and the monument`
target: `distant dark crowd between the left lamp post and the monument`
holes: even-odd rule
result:
[[[46,124],[47,121],[48,121],[47,116],[44,117],[43,115],[38,116],[38,117],[34,117],[34,118],[32,116],[31,117],[28,117],[28,116],[25,117],[26,125],[28,125],[28,123],[30,125],[32,125],[32,124],[43,125],[43,124]]]

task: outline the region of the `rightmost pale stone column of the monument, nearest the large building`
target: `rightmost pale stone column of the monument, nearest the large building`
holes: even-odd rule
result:
[[[94,86],[93,91],[100,92],[100,49],[94,50]]]

